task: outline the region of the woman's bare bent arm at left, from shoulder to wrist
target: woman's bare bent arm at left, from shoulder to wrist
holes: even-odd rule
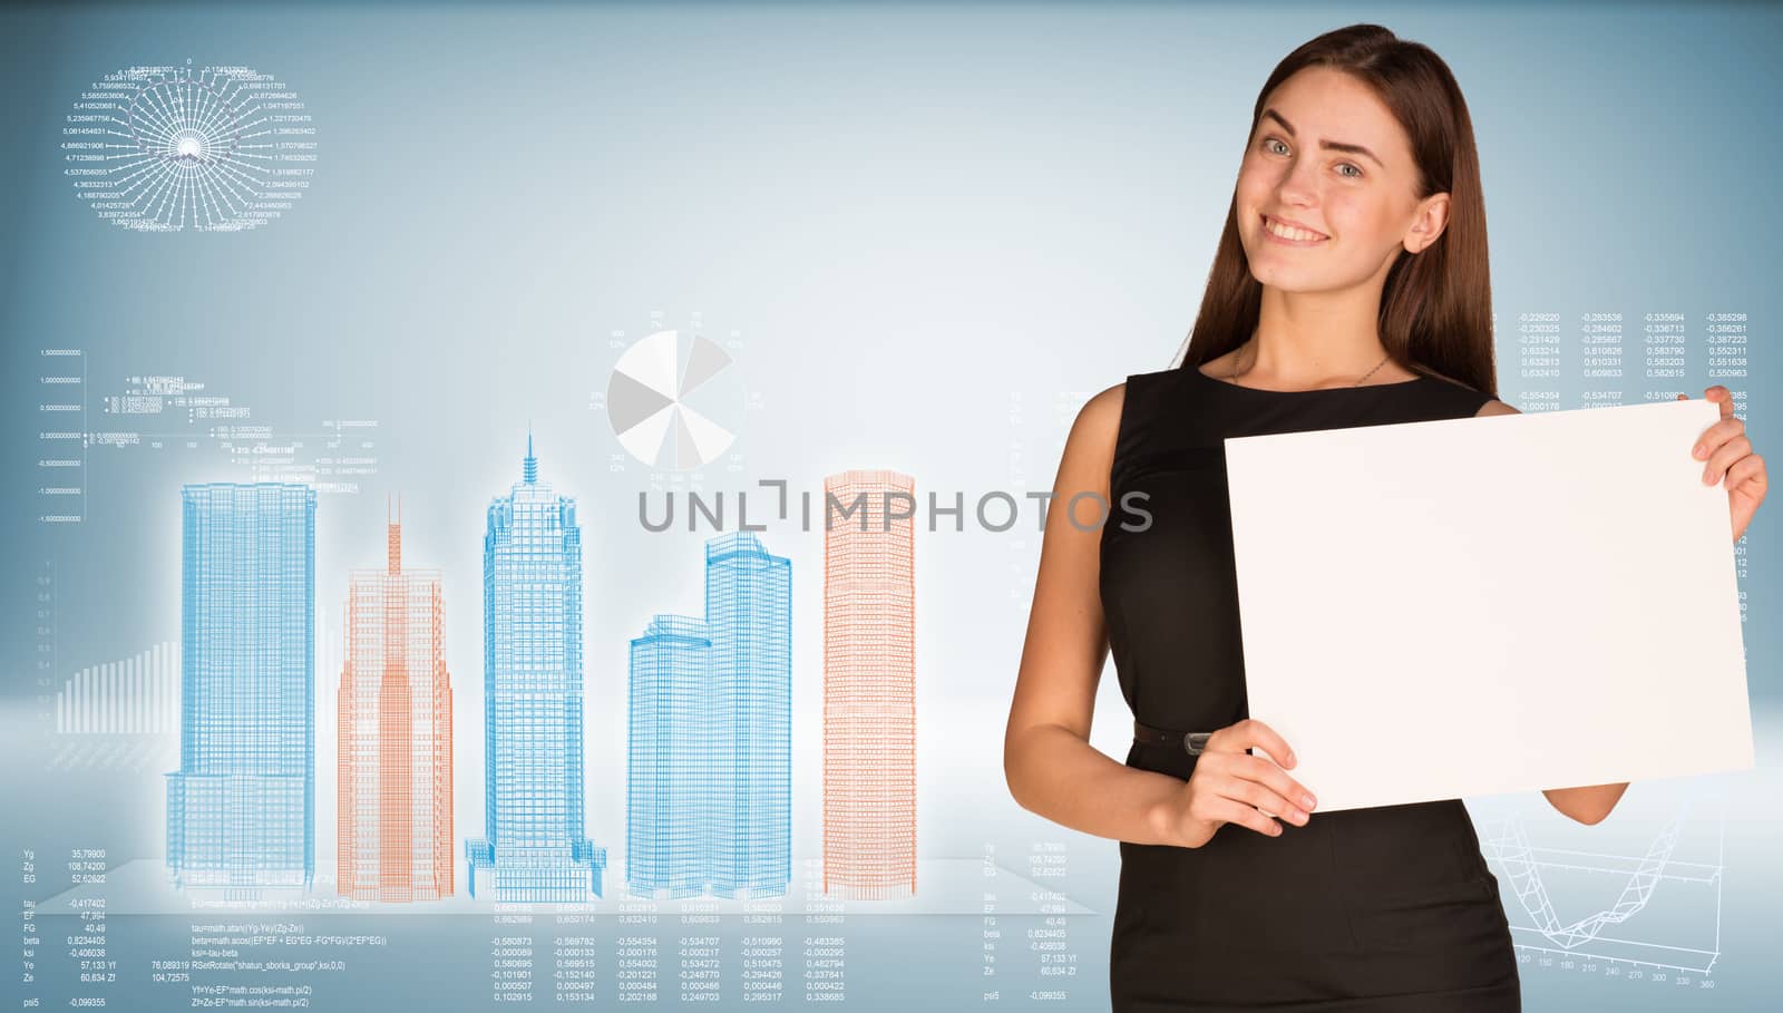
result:
[[[1004,733],[1004,776],[1022,808],[1052,822],[1113,840],[1175,844],[1166,811],[1184,783],[1127,767],[1089,745],[1107,631],[1098,594],[1102,530],[1086,528],[1111,512],[1109,467],[1123,401],[1125,383],[1091,398],[1064,442]],[[1066,510],[1084,490],[1098,492],[1102,505],[1086,496],[1079,526]]]

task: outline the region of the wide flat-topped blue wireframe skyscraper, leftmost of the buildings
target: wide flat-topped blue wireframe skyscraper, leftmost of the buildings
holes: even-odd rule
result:
[[[182,489],[178,886],[316,876],[316,490]]]

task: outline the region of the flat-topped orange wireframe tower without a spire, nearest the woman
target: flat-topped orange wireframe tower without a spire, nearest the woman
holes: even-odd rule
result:
[[[916,892],[915,482],[824,480],[824,892]],[[890,506],[890,508],[888,508]]]

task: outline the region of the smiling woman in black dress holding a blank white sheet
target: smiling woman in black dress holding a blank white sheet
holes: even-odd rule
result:
[[[1023,808],[1122,842],[1114,1009],[1521,1008],[1462,803],[1312,817],[1293,744],[1248,715],[1221,444],[1516,410],[1494,394],[1485,209],[1453,75],[1376,25],[1309,41],[1257,98],[1180,367],[1084,405],[1045,524],[1004,765]],[[1678,453],[1726,483],[1738,539],[1765,465],[1728,389],[1705,394],[1721,421]],[[1072,510],[1084,490],[1107,523]],[[1139,531],[1120,508],[1136,490]],[[1378,637],[1393,624],[1382,614]],[[1125,763],[1088,744],[1107,651],[1136,719]],[[1544,794],[1594,824],[1626,787]]]

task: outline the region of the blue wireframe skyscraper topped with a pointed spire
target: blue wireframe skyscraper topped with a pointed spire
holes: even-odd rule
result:
[[[465,840],[471,895],[574,902],[601,894],[606,849],[585,836],[581,785],[581,528],[576,501],[521,482],[489,505],[483,535],[487,838]]]

